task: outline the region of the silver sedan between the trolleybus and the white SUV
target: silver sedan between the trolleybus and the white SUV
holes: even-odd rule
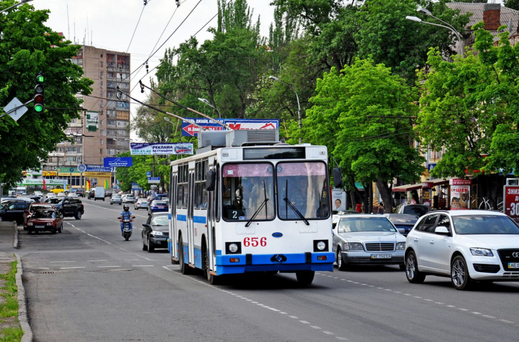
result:
[[[341,215],[333,227],[332,250],[337,267],[345,271],[350,265],[404,266],[406,238],[381,215]]]

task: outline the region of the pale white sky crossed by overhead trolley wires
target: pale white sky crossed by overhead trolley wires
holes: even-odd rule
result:
[[[149,78],[154,76],[146,74],[145,68],[137,72],[138,66],[148,59],[149,70],[152,70],[158,66],[166,48],[178,47],[217,14],[217,0],[180,0],[178,8],[176,0],[146,2],[146,6],[144,0],[33,0],[30,4],[37,10],[50,10],[46,26],[62,32],[66,39],[76,44],[130,53],[131,88],[134,88],[139,79],[149,86]],[[271,0],[247,2],[253,10],[253,23],[260,15],[261,33],[267,37],[274,13],[273,6],[269,5]],[[188,19],[182,23],[186,17]],[[197,34],[199,42],[211,39],[207,29],[215,26],[216,18]],[[164,42],[164,46],[150,57]],[[138,87],[131,96],[145,99]],[[131,104],[131,113],[135,115],[137,108],[137,104]]]

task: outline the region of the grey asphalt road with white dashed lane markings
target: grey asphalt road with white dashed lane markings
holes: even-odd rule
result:
[[[62,234],[19,236],[35,341],[517,341],[519,283],[460,292],[448,278],[414,285],[398,267],[235,276],[212,286],[183,276],[167,250],[120,236],[122,207],[83,200]]]

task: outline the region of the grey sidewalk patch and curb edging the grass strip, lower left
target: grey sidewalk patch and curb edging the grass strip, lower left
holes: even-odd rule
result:
[[[21,329],[24,330],[22,342],[33,341],[33,331],[27,319],[27,304],[25,298],[24,283],[21,282],[21,259],[15,253],[18,248],[18,229],[14,222],[0,221],[0,263],[10,265],[17,260],[16,285],[18,287],[18,320]]]

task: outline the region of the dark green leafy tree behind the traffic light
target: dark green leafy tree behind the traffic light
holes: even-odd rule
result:
[[[8,8],[15,1],[1,1]],[[44,26],[48,10],[34,10],[27,3],[1,14],[0,104],[13,97],[21,102],[33,98],[35,77],[45,76],[44,113],[35,113],[32,104],[18,122],[9,116],[0,119],[0,182],[12,184],[24,169],[39,169],[42,160],[66,140],[64,129],[80,111],[53,108],[80,108],[75,94],[88,95],[93,82],[82,77],[83,70],[71,62],[80,46],[71,45],[61,35]]]

